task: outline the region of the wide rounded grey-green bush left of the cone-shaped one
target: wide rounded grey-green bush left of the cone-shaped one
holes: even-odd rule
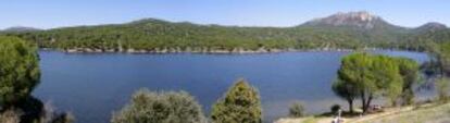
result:
[[[113,113],[112,123],[202,123],[200,104],[185,91],[152,93],[140,89],[120,112]]]

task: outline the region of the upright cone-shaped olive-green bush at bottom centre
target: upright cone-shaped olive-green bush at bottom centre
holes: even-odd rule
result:
[[[258,90],[238,81],[212,108],[214,123],[261,123],[262,109]]]

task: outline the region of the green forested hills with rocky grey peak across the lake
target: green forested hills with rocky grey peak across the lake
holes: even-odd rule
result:
[[[445,25],[405,28],[366,12],[338,13],[293,27],[199,25],[146,19],[0,34],[70,52],[271,52],[367,47],[424,50],[429,42],[450,40]]]

